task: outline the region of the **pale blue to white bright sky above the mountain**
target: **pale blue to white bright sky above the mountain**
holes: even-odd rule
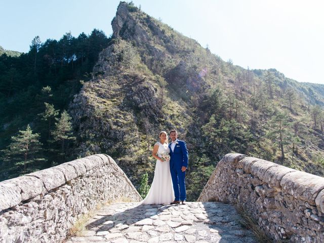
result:
[[[324,84],[324,2],[320,0],[134,0],[136,6],[223,60],[250,69],[276,68],[299,82]],[[0,45],[27,52],[68,31],[112,33],[115,0],[1,0]]]

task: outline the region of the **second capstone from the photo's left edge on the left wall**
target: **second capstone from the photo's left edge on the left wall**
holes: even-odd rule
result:
[[[33,176],[20,176],[8,182],[20,188],[22,201],[46,192],[42,180]]]

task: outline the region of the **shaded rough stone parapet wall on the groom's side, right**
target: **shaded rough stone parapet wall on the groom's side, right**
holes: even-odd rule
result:
[[[237,204],[275,241],[324,242],[324,178],[243,154],[226,154],[198,201]]]

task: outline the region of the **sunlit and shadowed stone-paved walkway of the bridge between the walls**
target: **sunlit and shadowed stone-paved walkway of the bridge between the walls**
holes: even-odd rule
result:
[[[257,242],[239,219],[231,205],[222,203],[116,203],[98,211],[87,230],[65,242]]]

